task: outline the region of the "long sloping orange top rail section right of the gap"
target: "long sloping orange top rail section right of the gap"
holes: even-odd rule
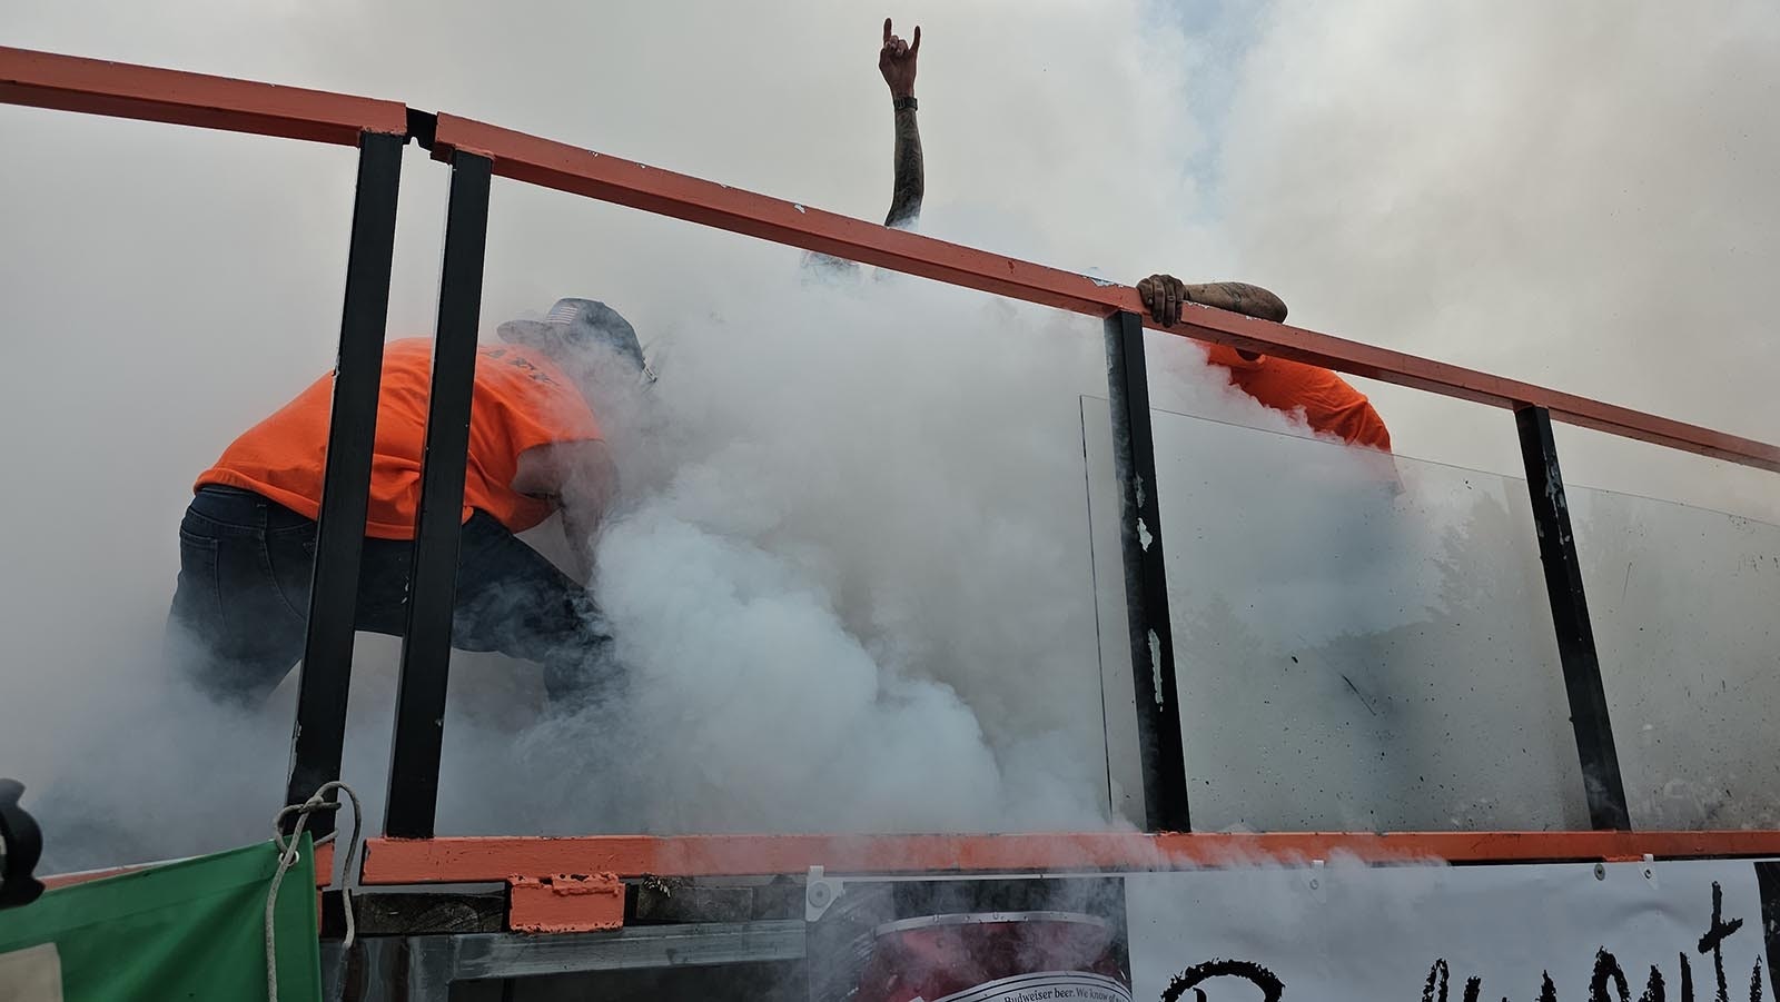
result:
[[[438,116],[433,157],[449,160],[456,149],[491,158],[495,174],[502,178],[671,215],[732,233],[1091,317],[1109,317],[1118,310],[1143,313],[1137,290],[1127,285],[991,255],[904,230],[890,230],[863,219],[441,114]],[[1196,304],[1173,327],[1159,327],[1152,322],[1146,326],[1497,408],[1536,404],[1549,409],[1552,418],[1568,424],[1780,472],[1780,447],[1776,445],[1303,327]]]

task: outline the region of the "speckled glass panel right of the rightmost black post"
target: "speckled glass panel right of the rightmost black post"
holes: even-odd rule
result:
[[[1780,826],[1780,527],[1566,493],[1632,826]]]

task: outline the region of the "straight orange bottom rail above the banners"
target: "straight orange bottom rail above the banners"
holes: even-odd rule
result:
[[[1531,863],[1780,856],[1780,831],[1419,831],[1082,835],[596,835],[372,838],[363,883],[902,872],[1168,870],[1347,856],[1371,863]]]

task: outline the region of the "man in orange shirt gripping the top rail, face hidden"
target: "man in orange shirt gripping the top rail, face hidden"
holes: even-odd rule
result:
[[[1169,274],[1152,274],[1137,283],[1137,295],[1150,317],[1164,327],[1180,320],[1180,306],[1185,303],[1285,322],[1285,303],[1278,295],[1242,281],[1185,285]],[[1390,452],[1390,431],[1365,393],[1328,368],[1225,345],[1209,345],[1207,360],[1226,368],[1230,383],[1262,404],[1285,413],[1303,409],[1305,422],[1315,431],[1333,434],[1347,445]]]

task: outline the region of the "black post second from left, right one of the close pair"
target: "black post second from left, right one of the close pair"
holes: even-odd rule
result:
[[[433,392],[420,461],[420,518],[415,525],[415,559],[408,568],[408,626],[402,634],[384,812],[384,831],[399,838],[431,838],[438,806],[491,167],[488,157],[452,155]]]

